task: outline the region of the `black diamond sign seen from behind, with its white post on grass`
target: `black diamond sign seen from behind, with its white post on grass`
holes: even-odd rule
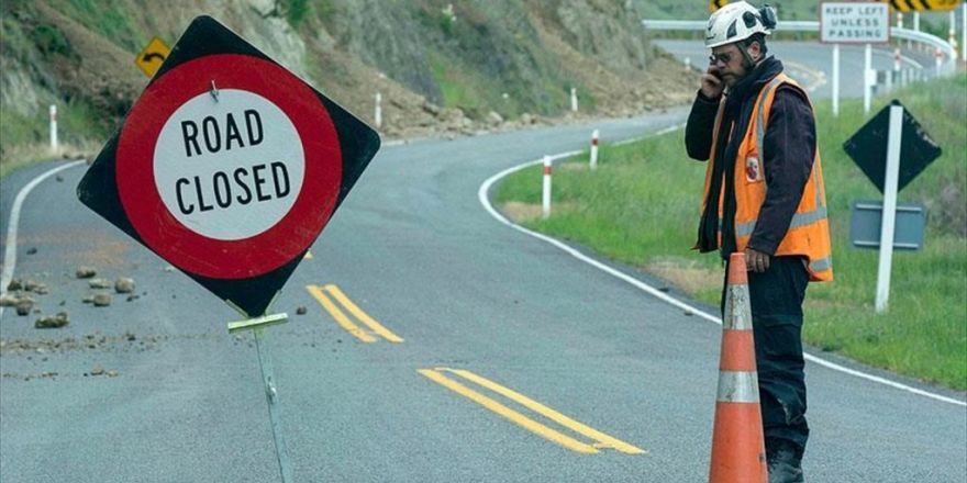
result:
[[[893,100],[890,105],[860,127],[844,143],[843,149],[883,193],[879,243],[858,243],[857,234],[853,235],[855,246],[879,249],[876,312],[881,314],[887,311],[890,297],[893,250],[896,248],[919,248],[916,246],[899,246],[898,235],[903,235],[902,238],[910,238],[910,236],[905,233],[898,234],[898,228],[903,232],[920,231],[922,237],[923,224],[925,223],[925,216],[921,216],[914,218],[919,221],[919,226],[913,224],[897,225],[897,193],[920,175],[927,165],[940,157],[942,150],[898,100]],[[904,206],[904,211],[910,210]],[[863,223],[857,223],[859,214],[854,205],[854,226],[863,225]]]

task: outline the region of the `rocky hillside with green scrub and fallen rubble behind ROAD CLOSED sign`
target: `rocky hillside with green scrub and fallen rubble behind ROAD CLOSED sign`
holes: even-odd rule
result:
[[[390,137],[507,128],[686,102],[696,79],[611,0],[8,0],[0,4],[0,160],[46,137],[98,146],[147,83],[134,66],[209,14]]]

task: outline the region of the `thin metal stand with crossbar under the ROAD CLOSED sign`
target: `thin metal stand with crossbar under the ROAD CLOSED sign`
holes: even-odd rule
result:
[[[282,483],[292,483],[292,464],[289,461],[289,447],[286,446],[286,437],[282,435],[279,394],[276,390],[276,375],[275,371],[273,371],[271,356],[266,344],[265,328],[270,325],[285,324],[288,321],[287,314],[273,314],[229,323],[229,334],[252,330],[252,334],[255,336],[255,349],[258,351],[258,368],[262,370],[262,381],[265,384],[268,417],[271,422],[273,440],[276,443],[276,457],[279,460],[279,472],[282,475]]]

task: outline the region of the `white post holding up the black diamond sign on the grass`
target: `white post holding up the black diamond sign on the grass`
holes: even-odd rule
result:
[[[900,177],[900,137],[903,134],[903,106],[890,105],[890,128],[887,138],[887,172],[883,180],[883,215],[880,224],[880,262],[877,271],[876,311],[887,311],[890,299],[890,271],[893,265],[893,233],[897,222],[897,184]]]

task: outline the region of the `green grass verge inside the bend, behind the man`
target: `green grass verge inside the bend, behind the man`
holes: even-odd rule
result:
[[[865,122],[862,104],[846,101],[833,117],[829,102],[816,105],[833,235],[835,281],[815,283],[807,297],[804,337],[835,351],[958,390],[967,389],[967,75],[916,85],[897,92],[940,144],[944,154],[901,193],[901,202],[927,205],[925,247],[896,252],[889,311],[876,314],[876,250],[849,246],[849,205],[881,199],[846,156],[843,142]],[[889,103],[880,98],[870,116]],[[575,240],[637,267],[662,261],[680,273],[718,270],[714,255],[690,250],[694,243],[704,164],[687,158],[681,130],[630,145],[603,146],[599,168],[587,154],[567,160],[554,177],[554,212],[523,223]],[[580,165],[580,167],[579,167]],[[541,168],[504,180],[498,204],[540,203]],[[694,278],[694,277],[692,277]],[[721,278],[689,291],[718,304]]]

